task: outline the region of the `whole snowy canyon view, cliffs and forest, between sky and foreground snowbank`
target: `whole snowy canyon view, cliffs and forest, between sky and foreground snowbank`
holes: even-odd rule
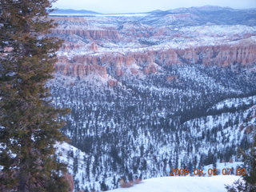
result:
[[[222,181],[165,177],[170,169],[236,166],[238,149],[250,147],[256,11],[68,12],[51,17],[58,27],[50,35],[65,42],[49,86],[54,105],[71,109],[62,132],[72,146],[59,151],[74,190],[113,190],[136,178],[159,187]]]

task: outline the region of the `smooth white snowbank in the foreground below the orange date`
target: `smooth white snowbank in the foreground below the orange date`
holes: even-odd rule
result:
[[[163,177],[150,178],[130,188],[110,190],[112,192],[224,192],[225,185],[238,180],[238,176],[214,177]]]

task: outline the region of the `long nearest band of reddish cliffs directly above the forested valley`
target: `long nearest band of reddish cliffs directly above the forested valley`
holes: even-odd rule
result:
[[[92,44],[94,50],[97,46]],[[201,46],[184,50],[151,50],[143,53],[130,53],[126,55],[104,54],[98,56],[76,55],[73,58],[60,57],[56,68],[62,74],[72,77],[85,77],[88,74],[99,74],[107,77],[107,72],[118,78],[128,72],[131,74],[154,74],[159,66],[174,64],[194,64],[230,66],[242,64],[244,66],[256,62],[256,45],[241,46]],[[103,66],[104,65],[104,66]],[[111,85],[113,83],[110,83]]]

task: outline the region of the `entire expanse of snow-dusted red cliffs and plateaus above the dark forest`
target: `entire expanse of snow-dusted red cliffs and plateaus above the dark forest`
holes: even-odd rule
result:
[[[203,64],[247,66],[256,62],[253,27],[166,27],[165,23],[196,18],[194,14],[166,14],[149,18],[55,17],[54,35],[65,39],[56,65],[71,77],[98,74],[107,78],[156,74],[159,66]],[[141,19],[141,20],[140,20]],[[145,20],[144,22],[141,22]],[[153,22],[154,20],[154,22]],[[170,80],[170,79],[169,79]],[[107,81],[106,81],[107,82]],[[110,82],[109,86],[113,86]]]

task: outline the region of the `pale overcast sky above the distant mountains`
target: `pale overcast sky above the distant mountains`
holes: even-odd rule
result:
[[[54,8],[117,14],[206,5],[230,6],[237,9],[256,8],[256,0],[58,0],[54,3]]]

